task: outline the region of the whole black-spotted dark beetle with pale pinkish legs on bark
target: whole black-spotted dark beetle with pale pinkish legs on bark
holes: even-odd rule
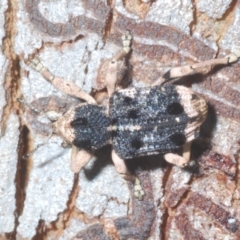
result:
[[[78,173],[96,149],[112,144],[112,160],[117,172],[135,184],[134,195],[141,200],[144,191],[140,181],[129,173],[125,161],[163,153],[167,162],[179,167],[187,166],[191,143],[198,137],[207,116],[206,102],[191,89],[162,82],[206,73],[214,65],[236,62],[238,55],[175,67],[153,86],[116,91],[118,61],[131,51],[130,32],[122,36],[122,41],[123,48],[105,64],[107,106],[97,105],[95,99],[77,85],[53,75],[38,58],[27,64],[62,92],[86,101],[69,109],[53,123],[53,132],[73,146],[72,171]],[[179,148],[183,148],[183,156],[172,153]]]

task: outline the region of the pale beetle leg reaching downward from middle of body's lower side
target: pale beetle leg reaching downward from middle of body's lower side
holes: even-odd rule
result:
[[[121,159],[114,150],[112,150],[112,160],[117,172],[120,173],[125,180],[131,181],[134,184],[134,196],[139,200],[142,200],[145,193],[141,187],[139,179],[128,172],[124,160]]]

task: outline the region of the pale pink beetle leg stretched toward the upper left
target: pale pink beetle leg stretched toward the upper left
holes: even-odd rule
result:
[[[39,60],[39,58],[34,58],[27,62],[27,65],[29,65],[32,69],[40,72],[42,76],[49,82],[51,82],[54,87],[59,89],[60,91],[85,100],[88,103],[95,104],[96,101],[92,96],[82,91],[75,83],[68,82],[64,80],[63,78],[57,77],[53,75]]]

